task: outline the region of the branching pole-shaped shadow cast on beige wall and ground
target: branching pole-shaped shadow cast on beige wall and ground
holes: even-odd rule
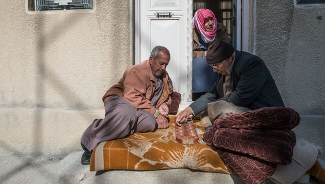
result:
[[[40,15],[41,16],[41,15]],[[70,19],[73,21],[71,22],[78,22],[81,19],[81,16],[78,16],[78,18],[75,18],[75,16],[70,16],[67,19]],[[40,18],[38,21],[38,25],[37,25],[37,30],[38,32],[36,33],[38,37],[37,42],[37,56],[36,56],[36,65],[37,65],[37,79],[36,79],[36,107],[43,107],[43,101],[44,101],[44,90],[43,90],[43,86],[44,86],[44,81],[45,80],[50,80],[52,84],[54,84],[55,86],[62,86],[64,85],[64,83],[62,81],[58,81],[57,77],[51,77],[51,78],[46,78],[47,75],[45,75],[45,73],[50,73],[49,76],[55,76],[55,73],[52,72],[50,69],[45,67],[44,64],[44,47],[46,45],[44,45],[45,43],[45,38],[46,37],[52,37],[53,35],[57,35],[58,32],[60,34],[62,34],[63,32],[67,31],[69,27],[73,26],[73,24],[65,24],[64,22],[61,22],[61,24],[64,24],[65,26],[64,29],[52,29],[51,32],[49,32],[48,34],[44,34],[43,33],[43,25],[44,25],[44,21],[43,18]],[[52,27],[62,27],[59,25],[53,25]],[[55,87],[57,89],[59,89],[60,87]],[[65,89],[68,89],[67,86],[64,87]],[[62,96],[64,96],[65,98],[68,99],[69,96],[76,96],[76,94],[74,92],[72,92],[72,90],[65,90],[65,91],[57,91],[59,93],[61,93]],[[86,107],[86,105],[84,105],[84,103],[80,100],[80,105],[82,107]],[[82,113],[80,115],[83,115]],[[39,153],[41,151],[41,140],[42,140],[42,108],[40,108],[39,110],[35,111],[34,114],[34,118],[33,118],[33,139],[34,139],[34,144],[33,146],[33,150],[34,152]],[[14,152],[17,155],[17,159],[19,159],[18,155],[19,154],[24,154],[24,152],[19,152],[16,149],[14,149],[13,147],[9,146],[8,144],[6,144],[5,142],[3,142],[2,140],[0,141],[0,147],[2,150],[7,150],[7,152]],[[32,162],[35,160],[35,158],[33,157],[29,157],[29,159],[24,160],[22,162],[21,165],[13,168],[12,170],[9,170],[5,173],[1,173],[0,178],[5,178],[3,180],[1,180],[0,183],[5,182],[6,180],[10,179],[11,176],[13,176],[16,172],[18,172],[19,170],[22,170],[24,167],[32,164]],[[44,168],[42,168],[44,169]],[[50,176],[53,175],[53,173],[50,173],[49,170],[42,170],[42,173],[46,173],[46,176]],[[3,177],[5,176],[5,177]],[[50,178],[50,177],[48,177]]]

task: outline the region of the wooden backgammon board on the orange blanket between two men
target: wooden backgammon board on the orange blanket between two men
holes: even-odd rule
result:
[[[176,141],[182,144],[194,144],[198,142],[198,134],[193,125],[193,120],[188,117],[187,121],[180,126],[175,126]]]

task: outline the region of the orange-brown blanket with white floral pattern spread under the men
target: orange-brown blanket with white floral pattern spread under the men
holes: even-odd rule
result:
[[[195,143],[184,145],[175,141],[174,119],[169,127],[155,132],[134,133],[128,137],[101,142],[92,152],[90,171],[104,169],[157,170],[191,168],[203,171],[234,173],[226,167],[210,146]],[[203,122],[194,126],[200,139]]]

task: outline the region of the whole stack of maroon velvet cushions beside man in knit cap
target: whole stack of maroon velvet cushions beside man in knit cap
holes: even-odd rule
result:
[[[261,183],[276,164],[291,162],[299,114],[287,107],[264,107],[216,119],[203,140],[245,183]]]

